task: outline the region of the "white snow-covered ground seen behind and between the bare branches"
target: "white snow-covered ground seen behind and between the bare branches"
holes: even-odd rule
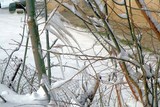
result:
[[[0,9],[0,46],[4,49],[7,49],[8,54],[10,54],[12,52],[12,50],[14,50],[17,45],[15,41],[19,42],[21,40],[21,36],[20,34],[22,34],[22,26],[23,26],[23,20],[24,20],[24,14],[10,14],[8,12],[8,10],[3,10]],[[68,26],[68,25],[66,25]],[[101,53],[101,56],[105,56],[105,52],[103,53],[101,51],[102,47],[99,44],[96,44],[94,46],[94,50],[91,49],[93,47],[93,45],[95,44],[95,38],[88,33],[85,30],[79,29],[79,28],[75,28],[72,26],[68,26],[67,30],[73,35],[73,37],[77,40],[77,42],[79,43],[80,47],[82,50],[86,50],[86,49],[90,49],[85,51],[86,54],[88,55],[95,55],[98,54],[98,52]],[[40,27],[40,30],[43,29],[43,26]],[[26,31],[27,32],[27,31]],[[40,31],[41,32],[41,31]],[[45,44],[45,34],[42,33],[41,37],[41,42],[42,42],[42,47],[43,49],[45,49],[46,44]],[[25,38],[24,38],[24,42],[23,45],[25,45],[25,41],[27,38],[27,33],[25,33]],[[53,41],[55,41],[57,37],[50,35],[50,43],[52,43]],[[70,38],[71,40],[71,38]],[[72,44],[73,46],[76,46],[75,42],[73,40]],[[61,48],[57,48],[56,46],[61,46],[62,42],[58,40],[58,42],[55,44],[55,47],[53,47],[51,49],[51,51],[53,52],[64,52],[67,53],[68,50],[66,48],[61,49]],[[29,43],[30,46],[30,43]],[[16,56],[18,58],[23,59],[23,55],[24,55],[24,50],[25,47],[22,46],[20,48],[19,51],[15,52],[13,54],[13,56]],[[96,50],[96,51],[95,51]],[[97,52],[97,53],[96,53]],[[45,51],[44,51],[45,53]],[[0,59],[4,59],[8,57],[8,55],[5,53],[5,51],[3,49],[0,49]],[[54,77],[57,78],[63,78],[63,73],[61,72],[61,70],[63,69],[64,72],[64,77],[65,80],[63,81],[59,81],[55,84],[53,84],[52,88],[57,88],[59,90],[59,87],[65,83],[66,81],[68,81],[68,79],[72,78],[72,76],[74,76],[77,72],[79,72],[80,69],[84,69],[83,66],[86,64],[84,63],[85,61],[79,61],[79,65],[77,66],[76,61],[73,60],[73,57],[66,57],[63,56],[61,57],[63,59],[62,63],[65,64],[66,66],[72,65],[75,68],[78,68],[78,70],[74,70],[74,69],[67,69],[67,68],[60,68],[60,67],[53,67],[52,68],[52,73]],[[54,64],[56,64],[58,62],[54,62]],[[33,60],[33,55],[32,55],[32,50],[31,48],[28,49],[28,53],[27,53],[27,60],[26,60],[26,65],[32,65],[34,66],[34,60]],[[103,76],[105,76],[105,79],[107,78],[106,74],[107,72],[111,72],[114,69],[112,68],[112,64],[111,62],[108,61],[104,61],[104,62],[96,62],[95,64],[93,64],[95,66],[95,70],[97,72],[100,72]],[[105,68],[105,66],[108,66],[109,68]],[[89,72],[91,74],[94,73],[94,70],[88,69]],[[121,74],[119,74],[121,75]],[[105,82],[104,79],[104,82]],[[103,80],[103,79],[102,79]],[[108,91],[106,92],[108,93]],[[125,94],[125,92],[124,92]],[[37,92],[33,92],[32,94],[25,94],[25,95],[19,95],[16,94],[15,92],[11,91],[10,89],[8,89],[6,86],[0,84],[0,95],[5,98],[7,100],[7,103],[4,103],[4,101],[0,100],[0,107],[43,107],[43,104],[46,104],[46,97],[44,95],[44,92],[42,91],[42,89],[40,88]],[[106,95],[105,98],[107,98],[108,96]],[[127,98],[127,96],[126,96]],[[116,98],[115,98],[116,99]],[[115,100],[113,99],[113,100]],[[130,100],[131,99],[131,100]],[[134,100],[132,100],[132,98],[127,98],[128,101],[126,101],[126,103],[128,103],[129,107],[142,107],[140,106],[141,104],[139,104],[139,102],[136,102]],[[43,101],[43,102],[42,102]],[[114,102],[113,102],[114,103]]]

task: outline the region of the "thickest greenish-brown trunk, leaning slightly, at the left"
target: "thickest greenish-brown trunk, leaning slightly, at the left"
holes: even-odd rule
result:
[[[39,82],[42,74],[46,74],[45,64],[42,56],[41,43],[39,38],[38,26],[36,24],[35,0],[26,0],[28,27],[31,38],[33,56],[36,70],[38,72]]]

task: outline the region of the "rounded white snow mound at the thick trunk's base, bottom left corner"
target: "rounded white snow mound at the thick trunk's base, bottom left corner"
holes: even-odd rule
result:
[[[41,87],[37,92],[26,95],[16,94],[2,84],[0,84],[0,87],[0,95],[7,101],[5,103],[0,100],[0,107],[30,107],[31,105],[33,107],[43,107],[43,105],[47,105],[47,98]]]

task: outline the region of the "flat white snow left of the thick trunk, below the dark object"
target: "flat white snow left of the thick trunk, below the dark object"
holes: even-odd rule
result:
[[[21,40],[20,34],[22,34],[21,27],[23,26],[24,15],[16,14],[16,13],[10,14],[7,9],[0,9],[0,13],[1,13],[0,14],[0,22],[1,22],[0,47],[4,49],[9,49],[7,52],[8,54],[10,54],[12,50],[15,49],[15,47],[17,47],[17,45],[14,45],[16,43],[13,42],[13,40],[16,40],[18,42]],[[26,38],[27,38],[27,35],[25,34],[24,41],[26,41]],[[22,45],[25,45],[25,44],[23,43]],[[18,52],[15,52],[13,55],[23,59],[24,50],[25,48],[21,47],[20,50]],[[30,57],[27,57],[26,62],[29,62],[29,63],[33,62],[33,55],[32,55],[31,48],[28,48],[28,56]],[[8,55],[4,51],[0,50],[0,59],[4,59],[6,57],[8,57]],[[31,64],[34,65],[34,63],[31,63]]]

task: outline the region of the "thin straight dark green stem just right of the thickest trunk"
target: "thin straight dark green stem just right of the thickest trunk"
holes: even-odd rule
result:
[[[45,4],[45,22],[47,22],[48,20],[48,11],[47,11],[47,2],[46,0],[44,0],[44,4]],[[48,30],[46,29],[46,48],[47,50],[50,49],[50,45],[49,45],[49,32]],[[50,52],[47,51],[47,65],[48,65],[48,81],[49,81],[49,84],[51,84],[51,64],[50,64]]]

